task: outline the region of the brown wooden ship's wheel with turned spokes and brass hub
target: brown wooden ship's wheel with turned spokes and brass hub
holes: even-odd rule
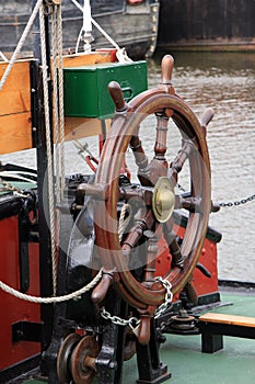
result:
[[[206,111],[199,121],[175,94],[172,71],[173,58],[167,55],[162,60],[162,83],[142,92],[129,104],[124,101],[118,83],[109,84],[116,114],[103,147],[94,191],[85,191],[97,200],[94,212],[96,249],[104,268],[103,279],[92,294],[94,302],[102,301],[111,283],[115,282],[121,297],[140,310],[163,303],[165,287],[157,282],[154,272],[160,237],[164,238],[171,255],[169,269],[162,278],[172,284],[173,294],[189,282],[196,267],[211,208],[206,125],[212,117],[212,110]],[[140,139],[140,126],[150,117],[157,121],[151,161]],[[174,143],[167,139],[170,124],[181,135],[179,147],[172,159],[166,158],[169,149],[174,148]],[[147,129],[150,138],[153,132],[149,124]],[[119,173],[130,150],[139,183],[130,182],[129,187],[123,188],[119,187]],[[175,190],[184,166],[188,169],[189,191],[177,194]],[[118,207],[131,202],[135,202],[131,225],[120,240]],[[174,231],[176,210],[187,213],[182,244]],[[142,261],[140,273],[137,273],[130,266],[134,250],[139,247]]]

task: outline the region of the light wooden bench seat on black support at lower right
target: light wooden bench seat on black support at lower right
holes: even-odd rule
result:
[[[235,316],[235,315],[217,314],[217,313],[208,312],[205,315],[201,315],[199,317],[199,321],[228,324],[228,325],[255,328],[255,317],[247,317],[247,316]]]

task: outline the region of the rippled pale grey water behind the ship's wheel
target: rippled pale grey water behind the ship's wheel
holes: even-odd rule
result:
[[[213,202],[235,202],[255,194],[255,54],[176,53],[173,56],[176,93],[198,116],[208,106],[215,110],[207,134]],[[148,61],[150,87],[160,82],[161,57],[159,54]],[[97,140],[85,142],[96,154]],[[148,135],[147,153],[152,153],[153,145]],[[74,146],[68,143],[66,148],[67,173],[86,172]],[[35,166],[34,150],[1,159]],[[218,245],[221,279],[255,280],[254,213],[255,201],[252,201],[211,214],[210,225],[222,233]]]

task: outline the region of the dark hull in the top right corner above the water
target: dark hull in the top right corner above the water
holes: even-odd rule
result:
[[[161,0],[160,49],[255,47],[253,0]]]

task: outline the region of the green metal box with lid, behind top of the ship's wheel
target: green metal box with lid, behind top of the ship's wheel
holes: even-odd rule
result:
[[[65,115],[107,118],[115,105],[107,86],[117,81],[128,102],[148,88],[147,63],[107,63],[63,69]]]

